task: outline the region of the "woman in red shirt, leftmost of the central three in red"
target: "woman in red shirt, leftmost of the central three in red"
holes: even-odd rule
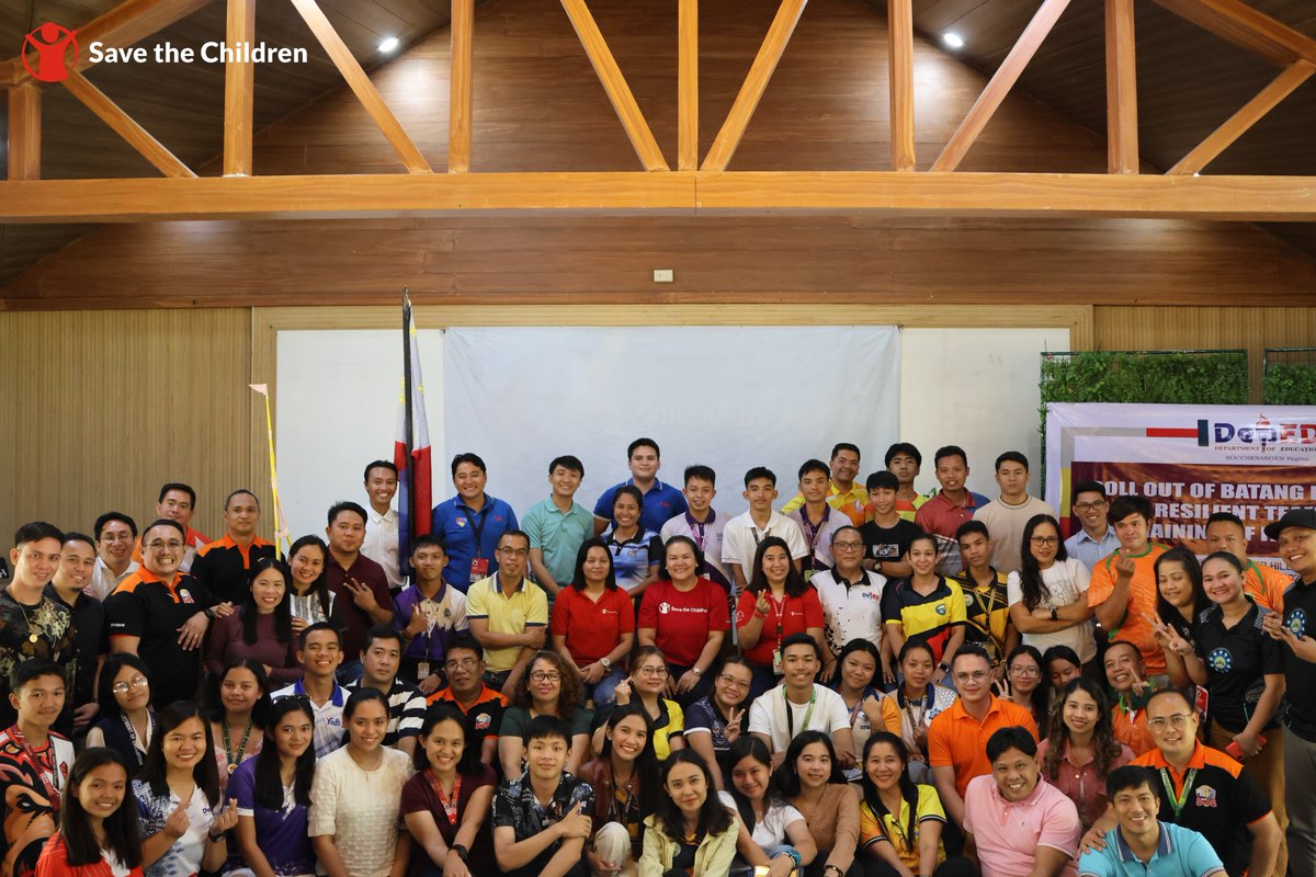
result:
[[[553,604],[553,648],[580,671],[584,699],[595,707],[612,702],[634,639],[636,611],[617,586],[612,552],[603,539],[586,539],[571,586]]]

